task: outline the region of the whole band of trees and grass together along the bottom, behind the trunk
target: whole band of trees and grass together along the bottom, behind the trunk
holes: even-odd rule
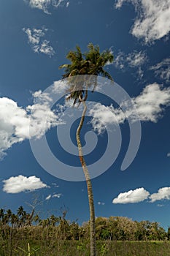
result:
[[[80,226],[77,222],[69,222],[65,215],[40,219],[34,214],[30,225],[26,219],[29,214],[23,208],[19,209],[22,211],[18,210],[17,214],[10,209],[0,209],[1,256],[90,255],[89,222]],[[170,255],[169,230],[166,233],[158,222],[98,217],[96,239],[98,256]]]

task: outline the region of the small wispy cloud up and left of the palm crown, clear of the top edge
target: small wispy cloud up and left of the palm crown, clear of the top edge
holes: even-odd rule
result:
[[[42,39],[45,37],[46,32],[48,31],[45,27],[42,29],[23,29],[23,31],[28,36],[28,43],[31,45],[31,48],[34,50],[34,53],[44,53],[48,56],[53,56],[55,50],[50,46],[50,41],[47,39]]]

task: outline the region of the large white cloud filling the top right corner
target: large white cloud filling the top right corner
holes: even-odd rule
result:
[[[161,39],[170,31],[170,0],[117,0],[115,7],[122,7],[124,2],[134,4],[138,14],[131,34],[144,42]]]

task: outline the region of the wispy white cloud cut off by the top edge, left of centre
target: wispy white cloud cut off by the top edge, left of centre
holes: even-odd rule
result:
[[[46,14],[50,14],[49,7],[69,7],[69,1],[66,0],[28,0],[28,4],[32,8],[42,10]]]

